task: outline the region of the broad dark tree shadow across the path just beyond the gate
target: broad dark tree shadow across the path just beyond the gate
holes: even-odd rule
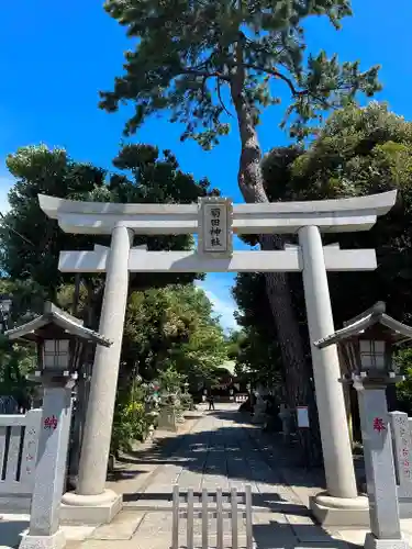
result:
[[[277,485],[288,484],[292,477],[296,485],[309,489],[324,486],[322,470],[305,471],[299,467],[299,452],[287,447],[280,435],[266,434],[247,425],[247,414],[216,410],[199,417],[208,416],[229,421],[231,425],[156,439],[151,447],[123,455],[110,480],[116,482],[138,477],[138,466],[155,464],[179,468],[179,479],[187,472],[242,483]],[[134,464],[133,471],[127,471],[127,464]],[[179,479],[177,482],[180,482]],[[170,484],[172,482],[176,481],[170,481]],[[137,501],[137,496],[124,493],[125,501]]]

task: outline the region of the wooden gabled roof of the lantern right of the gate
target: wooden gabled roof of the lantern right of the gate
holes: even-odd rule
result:
[[[365,332],[374,332],[379,328],[380,337],[390,339],[391,343],[401,344],[412,339],[412,327],[396,321],[386,314],[386,304],[383,301],[378,301],[375,305],[355,318],[345,322],[342,329],[334,334],[315,341],[313,345],[319,349],[329,347],[345,339],[353,337],[365,337]]]

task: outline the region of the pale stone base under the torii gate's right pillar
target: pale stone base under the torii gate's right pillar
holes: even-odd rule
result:
[[[365,496],[333,497],[322,492],[309,498],[309,508],[314,518],[325,527],[368,527],[369,502]]]

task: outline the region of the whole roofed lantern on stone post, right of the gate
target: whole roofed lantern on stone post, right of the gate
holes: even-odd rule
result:
[[[353,383],[358,395],[370,533],[367,549],[407,549],[399,519],[398,489],[386,389],[403,380],[393,361],[393,345],[410,341],[412,327],[386,314],[383,302],[345,323],[344,327],[315,341],[324,348],[337,344],[349,373],[342,382]]]

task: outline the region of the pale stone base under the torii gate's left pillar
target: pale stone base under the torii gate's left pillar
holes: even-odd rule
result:
[[[123,497],[111,490],[102,494],[80,495],[66,492],[62,497],[62,524],[109,524],[122,509]]]

